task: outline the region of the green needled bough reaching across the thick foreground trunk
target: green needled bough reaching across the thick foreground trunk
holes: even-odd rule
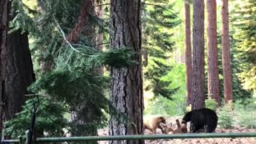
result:
[[[138,54],[129,48],[110,49],[102,52],[94,47],[82,46],[78,47],[78,50],[81,50],[80,53],[74,53],[70,46],[62,46],[60,49],[55,61],[56,69],[84,66],[86,70],[93,70],[100,66],[121,68],[138,65],[138,62],[135,61]]]

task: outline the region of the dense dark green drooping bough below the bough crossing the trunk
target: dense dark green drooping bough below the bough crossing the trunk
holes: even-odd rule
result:
[[[64,102],[73,110],[73,106],[90,107],[95,116],[95,125],[105,126],[106,118],[103,110],[108,110],[108,100],[102,94],[106,88],[107,78],[91,74],[90,71],[81,67],[74,67],[70,70],[54,70],[39,78],[31,86],[32,91],[43,91],[50,94],[58,102]]]

